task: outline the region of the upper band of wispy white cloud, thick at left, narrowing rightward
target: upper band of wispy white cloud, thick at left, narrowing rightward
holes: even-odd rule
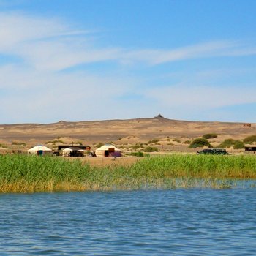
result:
[[[80,35],[80,37],[77,37]],[[81,36],[82,35],[82,36]],[[255,55],[254,45],[238,41],[204,42],[176,49],[97,48],[90,31],[58,18],[0,12],[0,53],[20,56],[37,69],[60,70],[77,64],[115,60],[157,65],[186,59]]]

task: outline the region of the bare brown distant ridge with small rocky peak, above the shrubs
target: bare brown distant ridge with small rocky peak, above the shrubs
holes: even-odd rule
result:
[[[102,121],[64,121],[52,124],[0,125],[0,143],[21,141],[27,144],[45,143],[56,138],[84,140],[85,143],[118,142],[120,138],[138,138],[138,142],[152,138],[200,138],[206,133],[217,133],[218,138],[243,139],[256,135],[256,124],[217,121],[181,121],[158,114],[154,118],[133,118]],[[126,143],[130,143],[127,139]],[[170,141],[170,143],[173,143]]]

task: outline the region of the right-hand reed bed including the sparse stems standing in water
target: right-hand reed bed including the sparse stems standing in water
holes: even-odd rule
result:
[[[236,187],[241,180],[256,178],[255,156],[173,154],[145,158],[129,170],[133,177],[161,188]],[[255,182],[251,182],[255,186]]]

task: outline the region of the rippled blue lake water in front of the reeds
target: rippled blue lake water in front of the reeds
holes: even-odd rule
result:
[[[0,255],[256,255],[256,189],[0,195]]]

